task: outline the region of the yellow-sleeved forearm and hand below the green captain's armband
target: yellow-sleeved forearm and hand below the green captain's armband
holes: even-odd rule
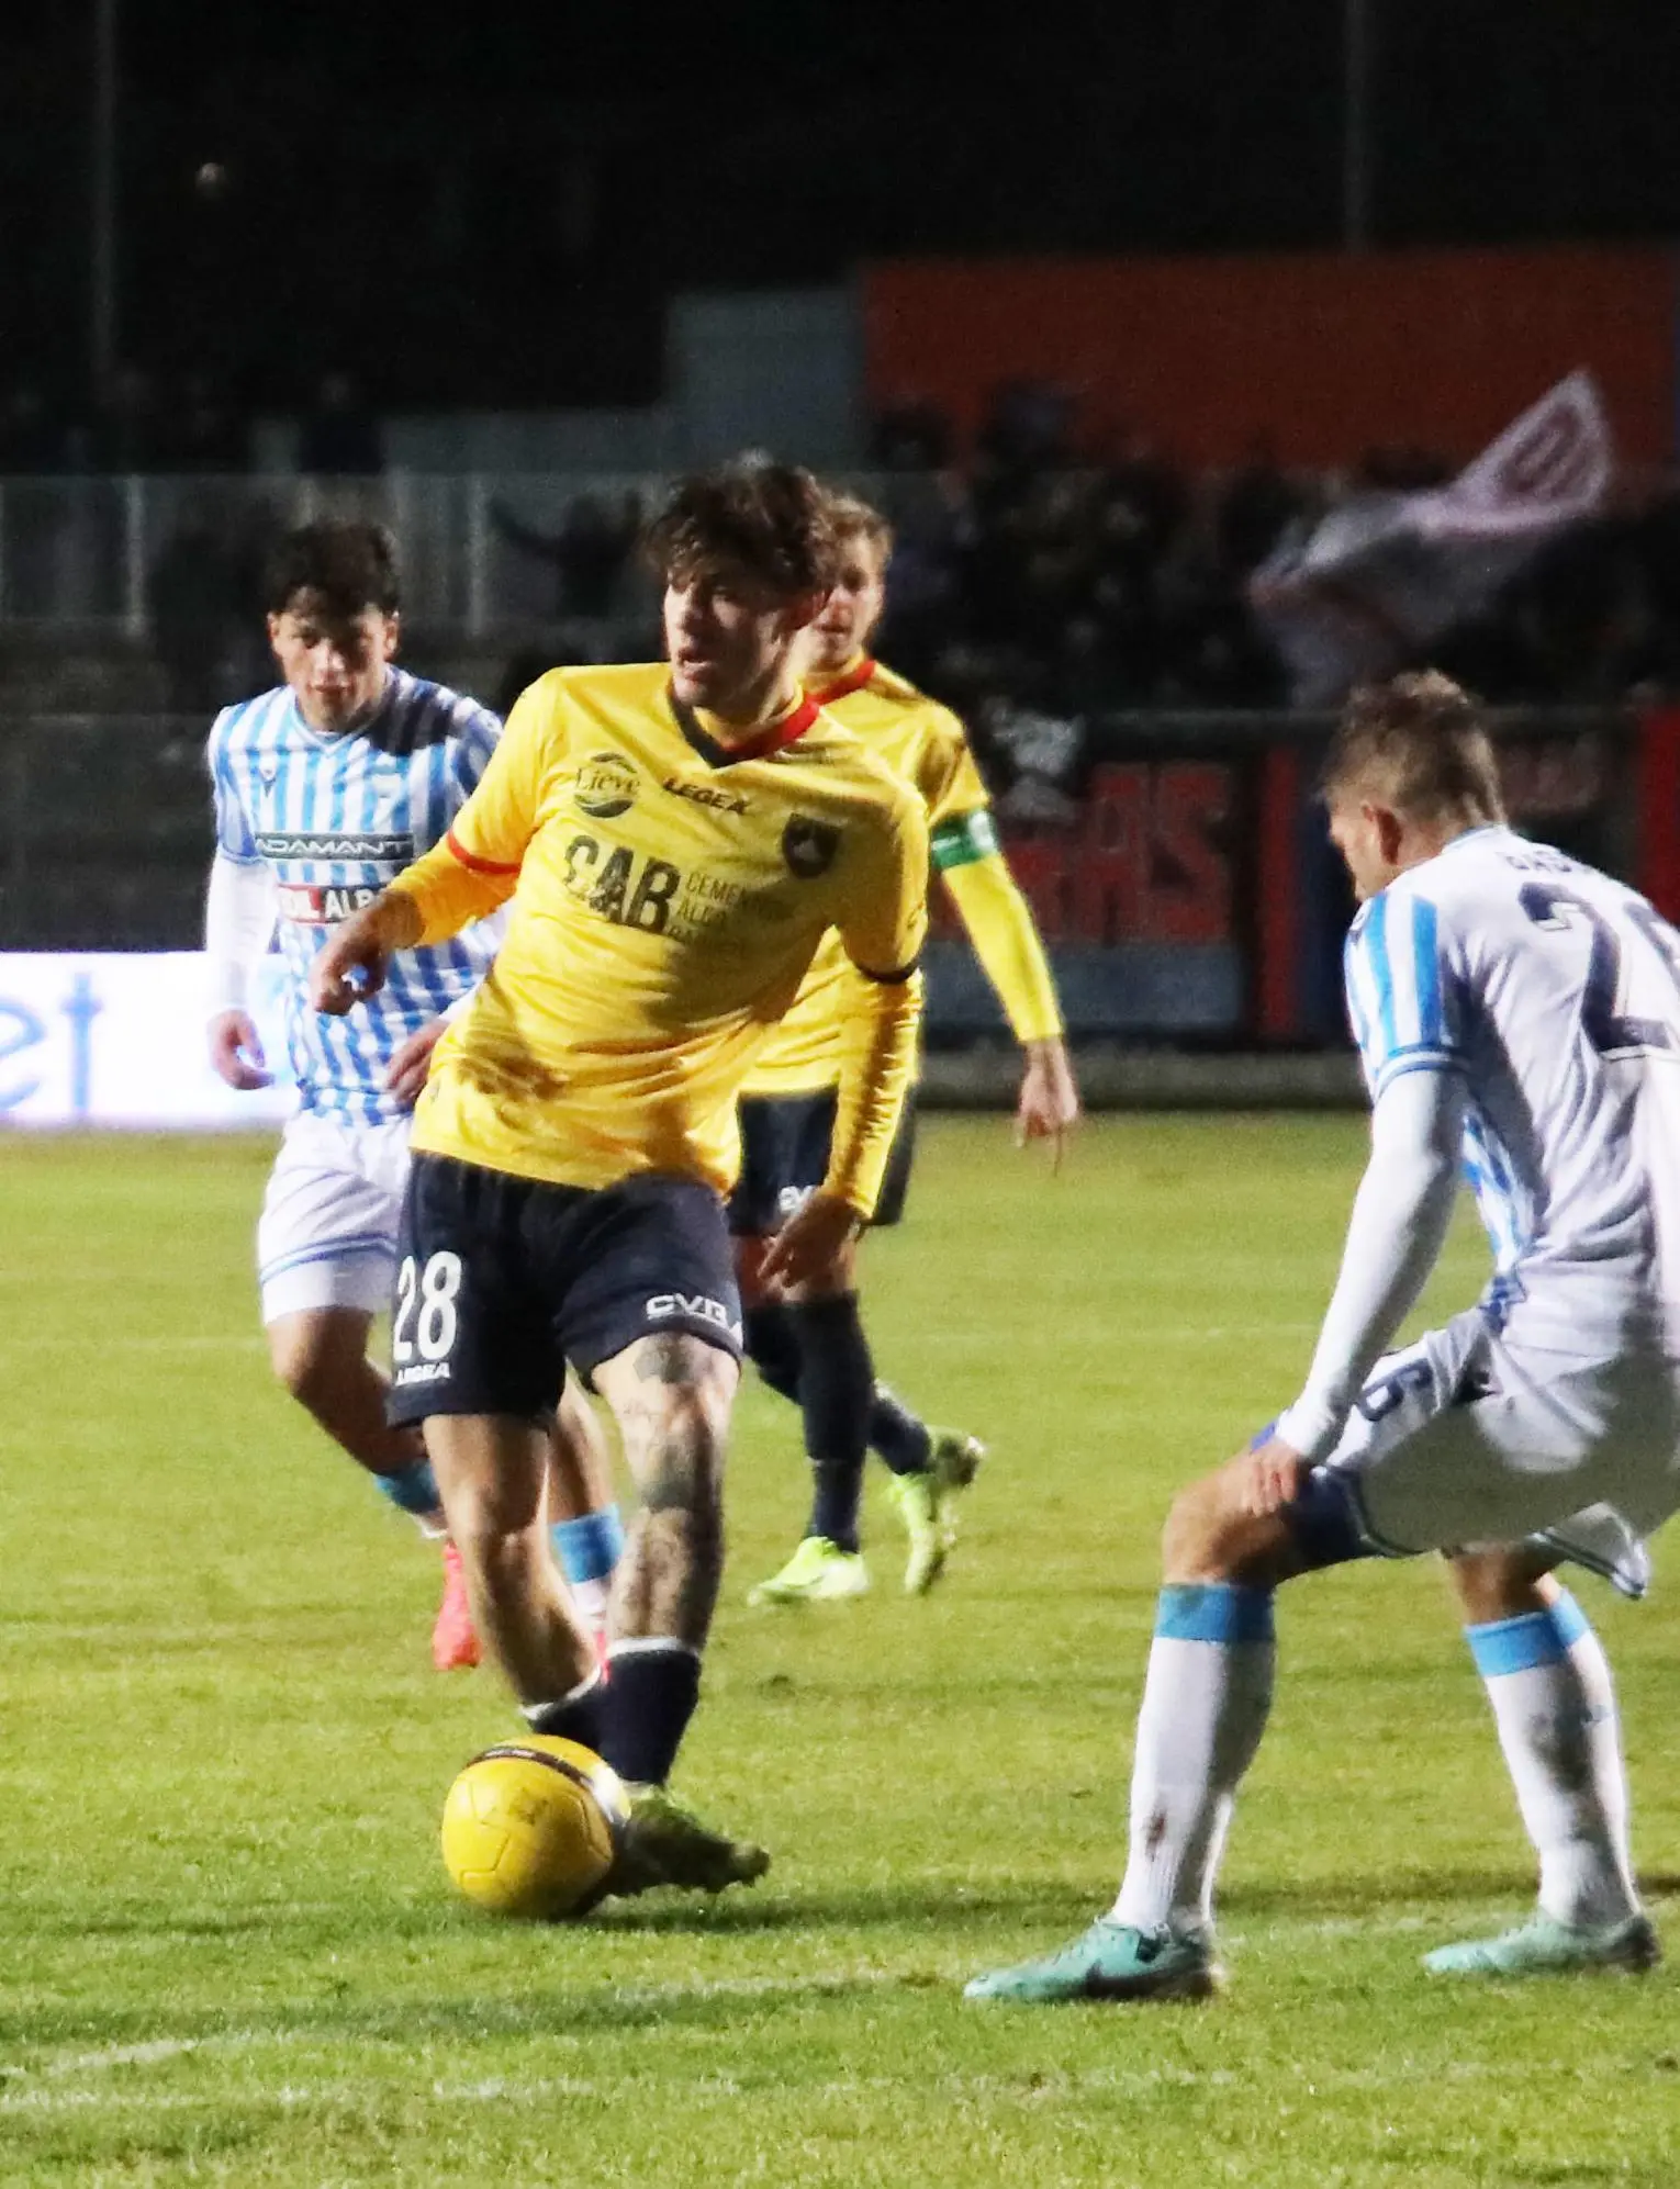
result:
[[[1067,1134],[1080,1116],[1080,1088],[1032,906],[1010,873],[983,806],[933,830],[933,865],[1027,1059],[1016,1143],[1049,1140],[1060,1165]]]

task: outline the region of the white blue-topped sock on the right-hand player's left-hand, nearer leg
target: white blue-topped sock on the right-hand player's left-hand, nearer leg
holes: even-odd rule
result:
[[[1213,1929],[1213,1876],[1273,1701],[1273,1591],[1165,1587],[1132,1756],[1132,1839],[1113,1920]]]

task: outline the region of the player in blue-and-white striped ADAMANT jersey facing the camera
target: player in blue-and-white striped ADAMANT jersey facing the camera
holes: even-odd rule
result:
[[[269,567],[267,611],[283,683],[223,709],[210,731],[210,1059],[234,1088],[269,1084],[248,989],[278,926],[298,1112],[256,1232],[269,1357],[326,1434],[442,1537],[418,1432],[386,1425],[368,1333],[392,1289],[410,1108],[442,1014],[484,976],[499,930],[484,924],[399,952],[381,992],[346,1018],[309,1007],[309,968],[340,919],[449,834],[502,725],[394,665],[396,565],[375,525],[289,532]],[[576,1392],[556,1399],[556,1548],[578,1609],[598,1624],[618,1513],[594,1414]],[[434,1659],[440,1670],[477,1661],[451,1543]]]

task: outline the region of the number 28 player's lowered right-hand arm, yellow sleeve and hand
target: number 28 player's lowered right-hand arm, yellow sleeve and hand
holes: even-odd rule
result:
[[[916,1077],[927,937],[927,821],[905,797],[883,814],[837,922],[852,976],[841,1018],[841,1079],[828,1175],[771,1241],[769,1283],[821,1276],[874,1213]]]

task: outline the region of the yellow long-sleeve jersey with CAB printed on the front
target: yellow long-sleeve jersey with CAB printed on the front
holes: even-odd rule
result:
[[[392,884],[434,943],[510,900],[445,1033],[414,1147],[567,1186],[727,1189],[736,1097],[835,930],[848,963],[828,1191],[867,1215],[913,1075],[922,801],[802,696],[749,744],[664,663],[552,670],[456,825]]]

